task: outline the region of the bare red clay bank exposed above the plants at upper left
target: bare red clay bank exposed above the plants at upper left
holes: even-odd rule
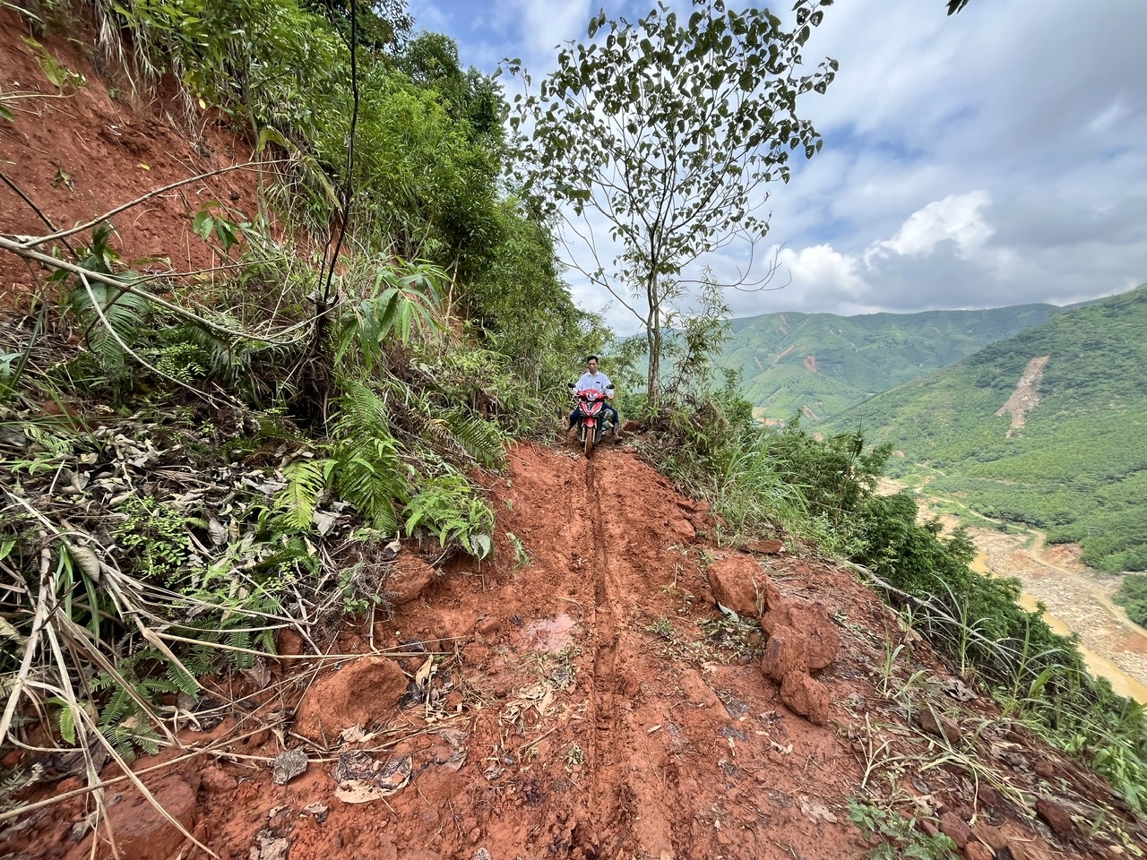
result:
[[[148,191],[220,167],[244,164],[251,147],[217,125],[209,114],[187,114],[172,87],[157,97],[133,97],[123,80],[96,69],[91,48],[60,34],[39,41],[60,65],[84,76],[81,86],[56,87],[45,75],[40,49],[16,13],[0,7],[0,92],[15,122],[0,119],[0,172],[55,228],[87,222]],[[116,97],[112,97],[112,93]],[[29,96],[29,97],[25,97]],[[253,167],[185,185],[115,216],[114,245],[125,263],[141,268],[188,272],[227,263],[192,230],[209,203],[253,216]],[[46,236],[36,209],[0,183],[0,234]],[[75,236],[73,245],[89,241]],[[40,249],[46,250],[46,249]],[[0,311],[19,310],[26,295],[50,274],[39,264],[0,251]]]

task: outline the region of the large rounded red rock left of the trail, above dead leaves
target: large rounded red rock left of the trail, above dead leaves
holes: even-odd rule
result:
[[[406,693],[406,675],[385,657],[360,657],[321,677],[299,703],[296,730],[334,741],[344,728],[368,726],[393,711]]]

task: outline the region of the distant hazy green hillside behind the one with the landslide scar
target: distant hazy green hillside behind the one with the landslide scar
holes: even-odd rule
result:
[[[736,319],[719,363],[738,369],[758,417],[827,420],[868,397],[1038,326],[1063,308],[1013,305],[838,316],[770,313]]]

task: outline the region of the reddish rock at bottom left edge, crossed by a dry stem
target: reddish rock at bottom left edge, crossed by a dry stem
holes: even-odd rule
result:
[[[148,789],[167,813],[190,832],[198,819],[198,773],[172,774]],[[120,857],[132,860],[166,860],[174,857],[180,844],[187,838],[167,821],[155,806],[138,791],[112,806],[108,815]],[[110,855],[107,844],[101,841],[97,857]],[[84,846],[85,857],[88,846]]]

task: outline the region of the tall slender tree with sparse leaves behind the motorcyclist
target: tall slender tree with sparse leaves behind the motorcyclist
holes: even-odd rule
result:
[[[539,92],[515,100],[512,128],[531,130],[522,141],[528,186],[591,249],[591,261],[567,261],[645,328],[653,407],[663,333],[686,295],[682,271],[739,240],[751,251],[768,229],[765,183],[788,181],[791,151],[811,158],[820,149],[796,103],[835,76],[835,61],[807,71],[802,56],[832,1],[797,0],[793,30],[768,10],[731,11],[723,0],[694,0],[688,18],[662,3],[637,23],[602,11],[587,44],[570,42]],[[529,85],[520,61],[507,65]],[[615,250],[592,235],[602,222]],[[725,286],[766,280],[752,279],[750,266]]]

